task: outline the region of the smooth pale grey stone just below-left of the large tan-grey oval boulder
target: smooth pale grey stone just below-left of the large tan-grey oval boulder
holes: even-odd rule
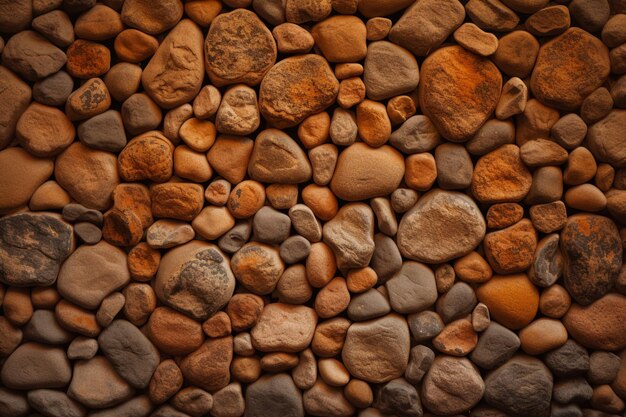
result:
[[[426,310],[437,301],[435,274],[426,265],[405,262],[385,283],[391,308],[401,314]]]

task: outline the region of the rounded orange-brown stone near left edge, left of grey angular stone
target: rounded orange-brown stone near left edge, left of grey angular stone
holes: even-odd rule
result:
[[[40,158],[58,155],[73,141],[76,130],[57,108],[32,103],[17,122],[15,135],[32,155]]]

